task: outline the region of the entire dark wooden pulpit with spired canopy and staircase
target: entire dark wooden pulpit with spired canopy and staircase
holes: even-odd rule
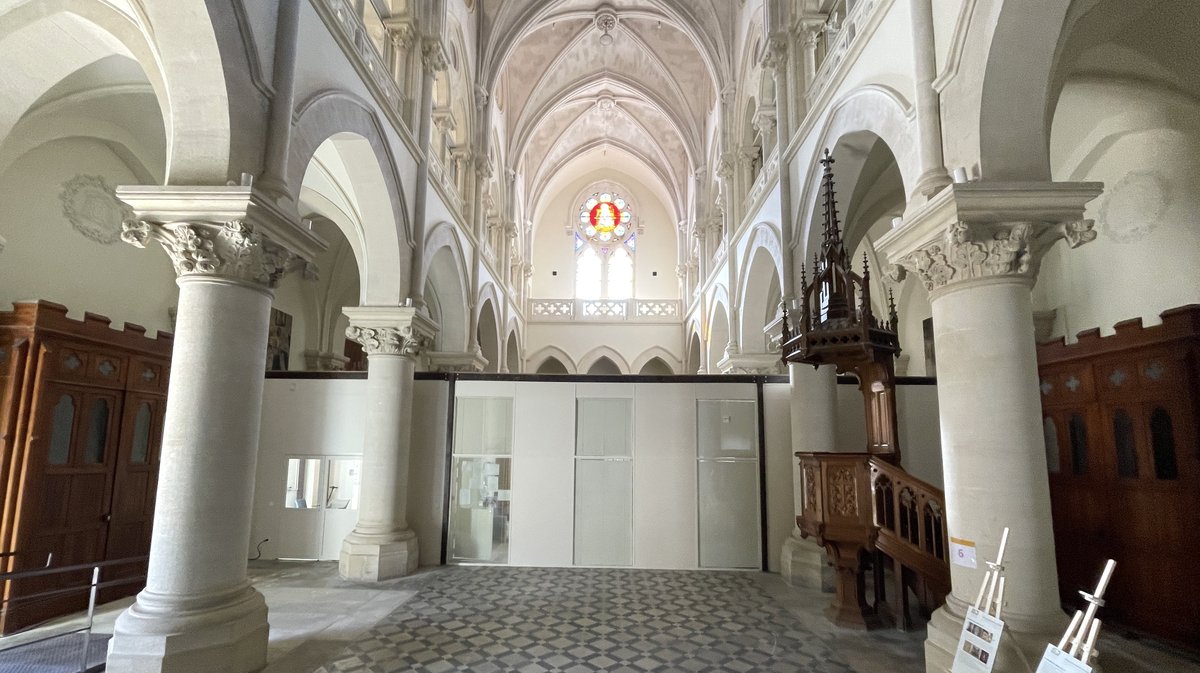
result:
[[[865,452],[798,452],[802,474],[800,533],[822,545],[836,569],[836,596],[826,611],[842,626],[871,629],[888,621],[882,558],[875,564],[875,603],[865,596],[865,554],[878,552],[893,563],[896,617],[908,625],[908,590],[928,609],[950,589],[947,563],[946,500],[937,488],[900,468],[896,428],[895,367],[900,353],[896,311],[888,298],[887,320],[871,308],[870,271],[863,274],[841,239],[835,200],[833,158],[828,150],[822,198],[824,232],[821,253],[812,260],[812,282],[800,271],[799,306],[784,312],[782,357],[858,378],[866,409]]]

